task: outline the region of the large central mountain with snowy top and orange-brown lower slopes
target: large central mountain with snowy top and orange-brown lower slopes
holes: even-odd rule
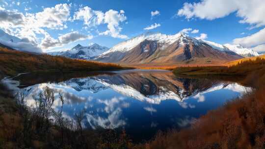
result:
[[[227,48],[209,45],[184,33],[148,32],[122,42],[95,59],[130,65],[216,64],[242,58]]]

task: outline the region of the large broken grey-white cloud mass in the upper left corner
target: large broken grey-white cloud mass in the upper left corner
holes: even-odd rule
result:
[[[17,3],[17,5],[19,4]],[[44,8],[41,12],[26,14],[18,12],[18,10],[0,9],[0,28],[8,34],[27,38],[31,44],[35,45],[40,40],[36,34],[50,36],[43,28],[67,28],[65,22],[70,17],[70,7],[71,4],[57,4],[51,8]],[[23,49],[25,44],[16,46],[19,45]]]

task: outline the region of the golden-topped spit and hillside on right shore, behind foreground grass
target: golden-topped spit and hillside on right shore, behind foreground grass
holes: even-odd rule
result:
[[[237,65],[222,67],[178,67],[173,70],[175,75],[185,76],[204,76],[214,75],[242,76],[242,84],[250,85],[255,88],[265,84],[265,59],[256,57],[248,60],[238,61]]]

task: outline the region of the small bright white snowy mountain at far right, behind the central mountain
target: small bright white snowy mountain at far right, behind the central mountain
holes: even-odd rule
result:
[[[244,57],[251,57],[251,56],[259,56],[260,54],[256,51],[254,51],[251,48],[245,48],[242,45],[231,45],[231,44],[225,44],[225,47],[227,47],[229,50],[232,50],[236,53],[238,53],[241,56]]]

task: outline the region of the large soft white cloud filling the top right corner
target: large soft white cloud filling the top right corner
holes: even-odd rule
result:
[[[233,12],[242,18],[240,23],[247,23],[255,27],[265,25],[264,0],[201,0],[198,3],[184,3],[178,10],[178,16],[186,19],[194,17],[213,20],[223,18]]]

